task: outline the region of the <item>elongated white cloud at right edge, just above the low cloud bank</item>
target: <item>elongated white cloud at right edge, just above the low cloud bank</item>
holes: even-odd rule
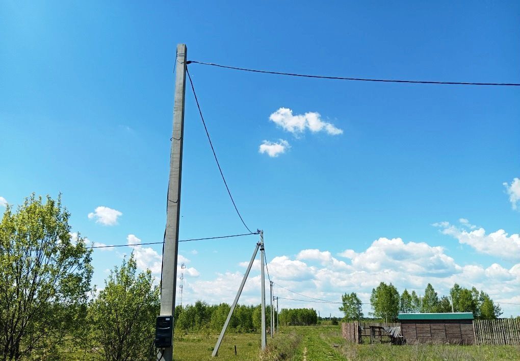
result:
[[[459,243],[468,244],[477,252],[501,257],[504,260],[520,261],[520,235],[509,236],[503,229],[486,234],[484,228],[467,231],[450,225],[448,222],[435,223],[445,235],[459,240]],[[472,228],[473,229],[473,228]]]

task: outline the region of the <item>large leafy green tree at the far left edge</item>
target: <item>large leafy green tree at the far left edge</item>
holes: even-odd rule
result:
[[[90,291],[92,266],[84,239],[71,239],[70,213],[34,194],[0,223],[0,359],[57,356],[74,335]],[[70,345],[69,345],[70,346]],[[36,354],[36,355],[35,355]]]

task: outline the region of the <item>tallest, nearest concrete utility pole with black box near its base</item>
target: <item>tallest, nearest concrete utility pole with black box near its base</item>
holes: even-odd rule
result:
[[[170,153],[170,179],[166,204],[166,233],[164,237],[163,270],[161,282],[161,316],[174,316],[177,288],[177,244],[179,241],[180,183],[183,169],[184,100],[186,94],[185,44],[177,45],[177,73],[175,74],[175,100],[173,104],[173,133]],[[160,352],[160,361],[173,359],[172,347]]]

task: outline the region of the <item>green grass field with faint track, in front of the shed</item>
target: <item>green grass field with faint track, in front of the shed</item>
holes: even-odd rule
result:
[[[227,334],[214,359],[216,339],[200,333],[176,335],[175,360],[520,360],[520,346],[351,344],[342,339],[339,326],[281,327],[274,339],[268,337],[265,353],[259,351],[259,334]]]

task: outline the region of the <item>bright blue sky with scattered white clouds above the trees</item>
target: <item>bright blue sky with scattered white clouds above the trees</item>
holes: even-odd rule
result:
[[[256,69],[520,82],[513,1],[7,1],[0,12],[0,200],[62,192],[73,230],[105,244],[162,240],[178,43],[191,60]],[[280,285],[368,301],[380,281],[420,293],[431,282],[439,294],[457,281],[520,303],[520,89],[189,67],[232,194],[250,228],[264,229]],[[293,117],[270,120],[280,108]],[[284,152],[259,152],[264,141]],[[184,146],[180,238],[242,233],[189,89]],[[105,225],[117,213],[89,218],[98,207],[122,215]],[[181,244],[185,302],[231,302],[255,242]],[[95,251],[97,285],[124,252]],[[160,253],[140,247],[141,266],[156,267]],[[257,303],[258,288],[255,270],[244,302]],[[297,305],[339,315],[283,304]]]

